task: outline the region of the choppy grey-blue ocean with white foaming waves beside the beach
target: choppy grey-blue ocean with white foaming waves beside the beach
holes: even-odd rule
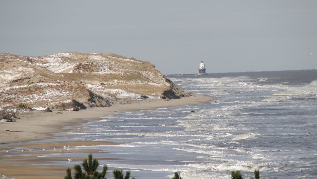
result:
[[[74,140],[121,143],[96,146],[101,153],[93,154],[116,158],[99,160],[108,179],[115,168],[137,179],[174,172],[229,179],[233,170],[250,178],[254,169],[261,179],[317,178],[317,70],[165,76],[186,92],[218,99],[121,112],[84,124],[91,130],[68,132]]]

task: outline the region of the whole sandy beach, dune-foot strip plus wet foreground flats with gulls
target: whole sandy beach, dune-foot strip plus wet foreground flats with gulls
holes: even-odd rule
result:
[[[54,143],[32,142],[32,144],[23,145],[21,142],[49,139],[56,136],[52,133],[66,132],[78,127],[81,128],[80,123],[89,120],[100,120],[100,117],[119,113],[120,111],[137,111],[156,109],[159,107],[206,104],[215,99],[216,98],[209,96],[196,95],[177,100],[147,99],[130,104],[115,104],[105,108],[63,111],[63,114],[57,112],[45,113],[41,111],[21,113],[19,115],[21,119],[18,119],[16,122],[0,123],[0,174],[16,179],[62,179],[66,174],[66,168],[63,166],[52,166],[48,163],[54,163],[60,160],[65,161],[67,159],[62,157],[49,157],[49,159],[47,159],[46,157],[39,156],[43,154],[65,152],[97,153],[98,151],[93,146],[116,145],[116,143],[107,141],[67,141]],[[92,147],[91,149],[77,150],[76,146]],[[33,149],[23,150],[23,148]],[[73,158],[72,160],[81,161],[85,158],[87,157]],[[41,165],[43,163],[46,165]]]

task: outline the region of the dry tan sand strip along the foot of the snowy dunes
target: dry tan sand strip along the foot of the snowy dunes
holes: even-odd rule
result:
[[[80,126],[80,124],[76,125],[76,123],[86,123],[87,120],[100,120],[100,117],[121,111],[140,111],[160,107],[208,104],[210,101],[216,99],[216,97],[196,95],[173,100],[139,100],[128,104],[114,104],[110,107],[92,107],[79,111],[63,111],[63,114],[43,111],[23,112],[19,114],[20,119],[17,119],[16,122],[0,123],[0,150],[3,144],[49,139],[54,136],[53,133],[70,131],[72,126]]]

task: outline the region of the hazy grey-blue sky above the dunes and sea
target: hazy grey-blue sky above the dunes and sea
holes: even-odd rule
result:
[[[317,69],[316,0],[0,0],[0,53],[107,52],[163,74]]]

